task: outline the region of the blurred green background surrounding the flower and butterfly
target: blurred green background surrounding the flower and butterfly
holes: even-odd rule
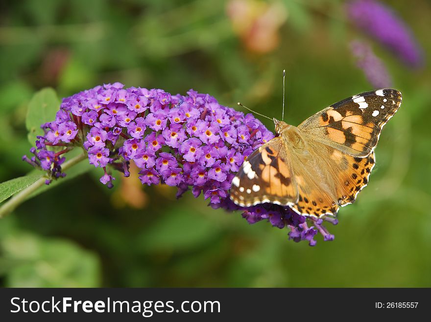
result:
[[[387,3],[429,62],[429,1]],[[108,190],[90,168],[0,220],[0,285],[431,286],[430,69],[409,70],[364,36],[342,1],[23,0],[2,1],[0,12],[1,182],[31,171],[21,161],[30,148],[25,115],[46,86],[60,98],[117,81],[193,88],[280,117],[286,69],[285,120],[297,125],[373,89],[349,50],[359,38],[404,98],[368,187],[327,225],[332,242],[288,241],[286,229],[249,225],[191,193],[175,200],[175,189],[143,188],[133,174]]]

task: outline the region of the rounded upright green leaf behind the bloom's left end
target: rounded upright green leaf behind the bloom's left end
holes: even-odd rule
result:
[[[25,126],[28,130],[28,141],[33,146],[37,135],[42,135],[40,126],[46,122],[53,121],[59,110],[60,100],[54,89],[43,88],[34,94],[28,104]]]

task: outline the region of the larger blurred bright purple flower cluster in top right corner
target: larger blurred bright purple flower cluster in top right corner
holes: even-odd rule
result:
[[[389,7],[375,0],[354,0],[346,6],[350,19],[389,48],[410,67],[423,64],[423,53],[407,25]]]

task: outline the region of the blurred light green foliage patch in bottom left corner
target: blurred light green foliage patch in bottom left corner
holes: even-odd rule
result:
[[[96,287],[95,254],[57,238],[15,233],[1,240],[8,287]]]

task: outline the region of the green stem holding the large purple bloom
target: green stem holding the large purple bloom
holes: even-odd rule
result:
[[[87,158],[87,155],[85,153],[79,154],[74,158],[70,159],[69,161],[65,162],[61,166],[61,169],[63,171],[66,171],[67,169],[71,168],[72,166],[84,160],[85,158]],[[4,202],[3,205],[0,207],[0,218],[14,211],[19,205],[21,205],[25,200],[27,200],[28,196],[30,196],[37,189],[42,187],[45,184],[45,181],[46,181],[45,177],[40,178],[39,180],[32,183],[27,188],[23,189],[22,191],[20,191],[19,193],[11,197],[9,200]]]

